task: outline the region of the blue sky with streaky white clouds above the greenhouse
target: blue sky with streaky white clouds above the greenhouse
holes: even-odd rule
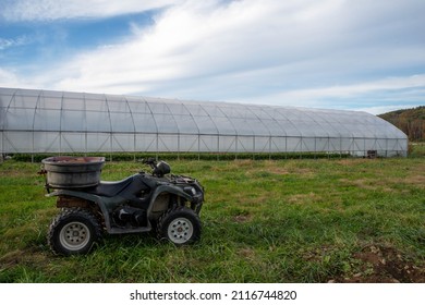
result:
[[[424,0],[0,0],[0,87],[379,114],[425,105]]]

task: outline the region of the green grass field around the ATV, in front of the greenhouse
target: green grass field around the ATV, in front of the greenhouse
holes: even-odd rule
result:
[[[39,163],[1,163],[0,282],[425,282],[425,158],[170,163],[206,187],[201,242],[106,235],[73,257],[47,246]]]

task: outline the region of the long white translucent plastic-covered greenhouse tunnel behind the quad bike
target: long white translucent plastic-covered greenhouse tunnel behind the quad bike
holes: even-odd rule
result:
[[[408,138],[365,112],[0,88],[0,150],[405,156]]]

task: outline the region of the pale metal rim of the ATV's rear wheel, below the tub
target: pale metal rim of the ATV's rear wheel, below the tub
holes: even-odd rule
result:
[[[64,225],[59,234],[60,243],[69,251],[84,248],[90,240],[88,227],[82,222],[70,222]]]

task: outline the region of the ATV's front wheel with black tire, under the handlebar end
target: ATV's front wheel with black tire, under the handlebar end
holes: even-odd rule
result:
[[[159,219],[157,233],[175,245],[194,243],[201,237],[199,217],[190,208],[170,209]]]

